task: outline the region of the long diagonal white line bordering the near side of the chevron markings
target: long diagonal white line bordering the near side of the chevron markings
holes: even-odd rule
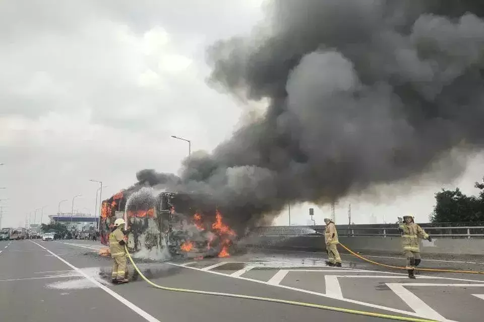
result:
[[[264,284],[264,285],[271,285],[268,282],[264,282],[264,281],[260,281],[260,280],[256,280],[256,279],[252,279],[252,278],[247,278],[247,277],[242,277],[242,276],[230,276],[230,275],[227,275],[227,274],[224,274],[224,273],[220,273],[220,272],[217,272],[217,271],[202,271],[202,269],[200,269],[200,268],[190,267],[190,266],[181,266],[179,264],[174,264],[174,263],[167,263],[167,264],[168,265],[172,265],[172,266],[178,266],[178,267],[181,267],[181,268],[186,268],[186,269],[201,271],[201,272],[205,272],[205,273],[210,273],[210,274],[216,274],[216,275],[225,276],[225,277],[236,278],[236,279],[240,279],[240,280],[244,280],[244,281],[250,281],[250,282]],[[280,285],[280,284],[278,284],[278,285],[271,285],[271,286],[280,287],[280,288],[284,288],[284,289],[288,289],[288,290],[292,290],[292,291],[297,291],[297,292],[301,292],[301,293],[307,293],[307,294],[317,295],[317,296],[326,297],[326,298],[334,298],[332,296],[329,296],[329,295],[326,295],[326,294],[323,294],[323,293],[309,291],[309,290],[305,290],[305,289],[301,289],[301,288],[296,288],[296,287],[291,287],[291,286],[285,286],[285,285]],[[372,304],[372,303],[367,303],[367,302],[361,302],[361,301],[352,300],[352,299],[346,299],[346,298],[342,298],[342,299],[339,299],[339,300],[341,300],[342,302],[347,302],[347,303],[352,303],[352,304],[358,304],[358,305],[364,305],[364,306],[378,308],[378,309],[382,309],[382,310],[386,310],[386,311],[390,311],[390,312],[394,312],[394,313],[400,313],[400,314],[406,314],[406,315],[420,317],[420,315],[416,314],[415,312],[404,311],[404,310],[396,309],[396,308],[393,308],[393,307],[388,307],[388,306],[383,306],[383,305],[378,305],[378,304]]]

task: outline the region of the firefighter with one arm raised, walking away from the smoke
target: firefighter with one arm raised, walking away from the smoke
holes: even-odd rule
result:
[[[432,241],[432,237],[414,222],[413,216],[403,216],[403,221],[400,222],[398,230],[402,233],[402,247],[407,259],[405,268],[407,269],[408,277],[415,279],[415,267],[421,262],[420,240],[418,238]]]

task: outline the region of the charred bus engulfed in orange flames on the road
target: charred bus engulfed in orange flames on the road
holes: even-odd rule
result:
[[[101,243],[108,245],[114,220],[124,218],[128,248],[139,257],[227,257],[237,234],[222,213],[201,198],[149,187],[119,192],[102,202]]]

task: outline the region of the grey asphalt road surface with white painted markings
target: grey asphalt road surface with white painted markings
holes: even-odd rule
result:
[[[0,316],[5,321],[385,321],[316,308],[212,295],[163,291],[133,275],[111,285],[110,259],[101,245],[81,240],[0,242]],[[349,256],[343,269],[317,253],[249,253],[225,259],[143,262],[154,283],[255,295],[442,321],[482,321],[484,276],[421,274],[409,280]],[[401,264],[392,256],[374,257]],[[425,261],[426,267],[484,270],[478,261]]]

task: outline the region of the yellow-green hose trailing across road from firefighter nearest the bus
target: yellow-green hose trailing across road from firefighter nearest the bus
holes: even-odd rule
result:
[[[283,300],[279,298],[271,298],[271,297],[260,297],[260,296],[252,296],[252,295],[244,295],[244,294],[232,294],[232,293],[221,293],[221,292],[211,292],[211,291],[202,291],[202,290],[191,290],[191,289],[184,289],[184,288],[174,288],[174,287],[167,287],[158,285],[150,281],[146,276],[141,273],[140,269],[133,261],[130,253],[128,252],[128,248],[125,245],[125,250],[128,258],[130,259],[131,264],[135,268],[136,272],[141,276],[141,278],[150,284],[151,286],[162,289],[165,291],[174,291],[174,292],[184,292],[184,293],[193,293],[193,294],[202,294],[202,295],[214,295],[214,296],[224,296],[224,297],[232,297],[232,298],[244,298],[250,300],[257,300],[257,301],[265,301],[265,302],[273,302],[273,303],[282,303],[282,304],[290,304],[296,306],[304,306],[304,307],[312,307],[318,308],[323,310],[335,311],[335,312],[342,312],[342,313],[350,313],[356,315],[365,315],[365,316],[372,316],[372,317],[379,317],[379,318],[386,318],[392,320],[400,320],[400,321],[409,321],[409,322],[437,322],[436,320],[432,319],[423,319],[423,318],[415,318],[415,317],[406,317],[406,316],[399,316],[399,315],[391,315],[391,314],[383,314],[383,313],[376,313],[376,312],[369,312],[369,311],[360,311],[360,310],[353,310],[343,307],[335,307],[335,306],[327,306],[315,303],[307,303],[307,302],[298,302],[298,301],[289,301]]]

